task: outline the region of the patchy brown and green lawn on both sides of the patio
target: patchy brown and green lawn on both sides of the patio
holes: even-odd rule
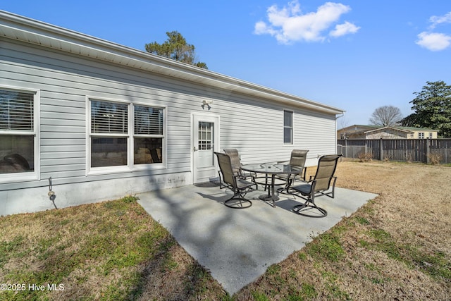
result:
[[[136,202],[1,217],[0,283],[66,287],[16,300],[450,300],[451,168],[344,161],[337,176],[379,197],[232,297]]]

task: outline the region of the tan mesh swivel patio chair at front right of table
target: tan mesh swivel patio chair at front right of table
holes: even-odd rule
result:
[[[318,168],[314,177],[310,177],[307,184],[295,185],[291,189],[294,190],[295,195],[302,197],[306,201],[304,204],[299,204],[293,207],[293,211],[297,214],[310,217],[325,217],[327,216],[326,209],[318,207],[315,204],[315,197],[326,195],[328,197],[335,197],[335,183],[337,177],[334,176],[335,169],[337,168],[338,159],[341,154],[321,156],[318,161]],[[319,214],[307,214],[311,209],[316,209]],[[310,211],[311,212],[311,211]]]

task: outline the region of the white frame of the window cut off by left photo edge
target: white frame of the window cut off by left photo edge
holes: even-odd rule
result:
[[[31,180],[39,180],[40,176],[40,166],[39,166],[39,110],[40,110],[40,90],[37,89],[27,89],[23,87],[0,85],[1,90],[10,90],[13,92],[23,92],[33,94],[33,130],[1,130],[0,135],[33,135],[33,152],[34,152],[34,171],[27,171],[24,173],[0,173],[0,183],[14,183],[23,182]]]

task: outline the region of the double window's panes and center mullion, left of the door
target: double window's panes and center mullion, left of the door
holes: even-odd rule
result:
[[[163,163],[162,108],[90,102],[91,168]]]

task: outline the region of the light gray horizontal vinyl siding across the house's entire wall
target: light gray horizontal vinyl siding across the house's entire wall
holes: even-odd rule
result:
[[[191,113],[220,116],[221,149],[240,149],[243,161],[280,161],[292,149],[310,156],[335,152],[335,115],[283,106],[117,66],[76,54],[0,38],[0,85],[40,91],[40,181],[0,183],[0,190],[92,180],[189,172]],[[87,176],[87,102],[99,97],[166,106],[166,168]],[[202,99],[213,99],[202,109]],[[37,108],[38,109],[38,108]],[[283,144],[283,109],[293,111],[293,145]]]

